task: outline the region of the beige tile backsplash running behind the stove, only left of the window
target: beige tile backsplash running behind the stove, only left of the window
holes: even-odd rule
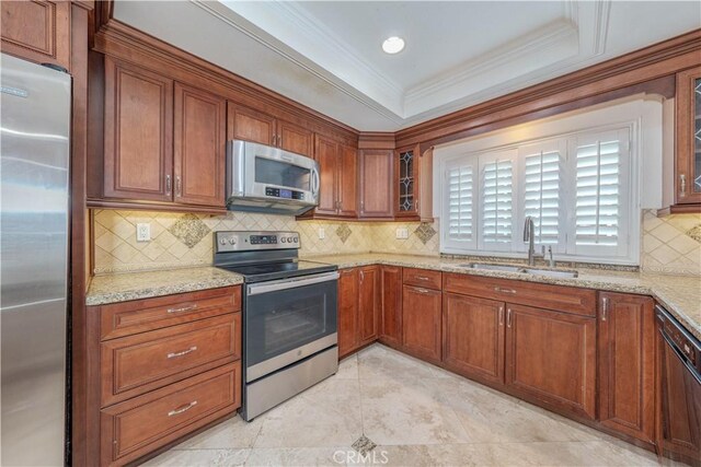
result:
[[[438,225],[418,222],[300,221],[289,215],[229,212],[227,215],[150,211],[93,211],[94,273],[206,266],[211,233],[222,230],[297,231],[301,256],[366,252],[438,255]],[[149,242],[137,242],[136,226],[148,223]],[[320,229],[324,238],[320,238]],[[395,238],[397,229],[409,237]]]

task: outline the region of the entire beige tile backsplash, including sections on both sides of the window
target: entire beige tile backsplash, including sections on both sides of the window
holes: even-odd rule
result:
[[[136,241],[137,223],[149,223],[151,241]],[[641,269],[701,275],[701,214],[657,218],[643,212]],[[320,238],[320,229],[324,238]],[[407,238],[397,238],[406,229]],[[211,233],[220,230],[297,231],[301,256],[350,253],[438,255],[438,223],[297,221],[287,215],[229,212],[227,215],[150,211],[93,211],[94,272],[206,266]]]

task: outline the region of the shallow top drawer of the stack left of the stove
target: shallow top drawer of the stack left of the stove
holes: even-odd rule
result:
[[[240,285],[103,305],[100,338],[114,339],[240,311]]]

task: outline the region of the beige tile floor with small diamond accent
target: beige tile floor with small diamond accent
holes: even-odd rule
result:
[[[375,345],[253,422],[235,417],[146,465],[652,466],[657,459]]]

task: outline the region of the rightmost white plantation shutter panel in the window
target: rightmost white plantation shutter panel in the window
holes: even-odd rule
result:
[[[623,190],[628,173],[627,132],[581,138],[573,152],[575,247],[589,247],[582,250],[598,249],[602,254],[618,252],[628,242],[623,222],[629,195]]]

